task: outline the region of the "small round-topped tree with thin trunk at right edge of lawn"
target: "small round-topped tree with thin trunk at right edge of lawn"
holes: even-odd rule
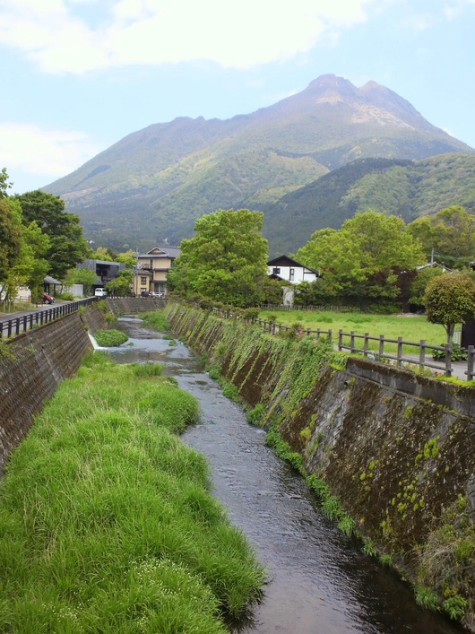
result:
[[[468,275],[451,273],[435,277],[424,295],[427,319],[442,324],[452,345],[456,324],[475,316],[475,282]]]

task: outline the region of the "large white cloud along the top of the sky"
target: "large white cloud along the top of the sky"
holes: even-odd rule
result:
[[[48,73],[196,59],[248,68],[305,52],[326,30],[364,21],[375,1],[115,0],[107,19],[87,22],[83,9],[89,4],[94,15],[94,0],[3,0],[0,42]]]

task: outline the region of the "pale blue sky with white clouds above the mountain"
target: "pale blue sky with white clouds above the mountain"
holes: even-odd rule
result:
[[[229,118],[322,74],[475,147],[475,0],[0,0],[0,169],[48,185],[125,135]]]

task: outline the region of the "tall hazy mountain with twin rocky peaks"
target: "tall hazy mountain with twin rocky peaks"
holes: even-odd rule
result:
[[[193,235],[203,213],[261,209],[356,159],[444,152],[475,151],[384,86],[323,75],[249,115],[148,126],[43,189],[96,244],[142,249]]]

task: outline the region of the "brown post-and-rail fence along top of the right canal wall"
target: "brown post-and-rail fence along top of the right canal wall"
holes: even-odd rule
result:
[[[256,319],[255,323],[263,326],[264,332],[269,332],[271,334],[280,334],[281,332],[288,333],[290,326],[283,326],[281,324],[275,324],[272,322],[265,321],[263,319]],[[321,330],[317,328],[316,330],[301,329],[298,331],[298,336],[310,336],[311,334],[316,334],[317,341],[324,336],[328,343],[332,343],[339,351],[349,351],[352,353],[363,354],[367,359],[371,360],[391,360],[395,361],[398,368],[402,367],[403,363],[409,363],[410,365],[419,365],[419,368],[423,367],[431,368],[431,369],[442,369],[444,371],[445,377],[451,377],[453,373],[452,367],[452,346],[446,343],[444,346],[440,345],[430,345],[424,339],[421,339],[419,343],[415,342],[406,342],[402,339],[402,337],[398,337],[397,339],[386,339],[384,334],[380,334],[378,337],[372,337],[368,333],[365,334],[356,334],[351,331],[350,333],[344,333],[342,330],[338,331],[338,337],[333,337],[332,329],[329,330]],[[361,342],[361,343],[359,343]],[[377,351],[370,350],[369,343],[377,342]],[[384,344],[385,343],[395,343],[396,344],[396,353],[384,352]],[[413,346],[418,349],[417,352],[412,357],[408,356],[407,353],[404,353],[404,346],[407,347]],[[444,352],[444,360],[441,360],[443,367],[441,368],[440,364],[436,365],[434,361],[427,360],[427,351],[433,352]],[[475,346],[469,345],[467,349],[467,370],[465,371],[465,375],[467,376],[467,380],[471,381],[475,378]]]

